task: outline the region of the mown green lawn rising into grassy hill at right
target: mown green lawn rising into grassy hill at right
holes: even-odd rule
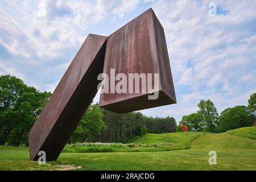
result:
[[[28,147],[0,146],[1,170],[256,170],[256,127],[233,132],[147,134],[135,144],[172,143],[186,150],[154,152],[62,153],[56,162],[39,166],[28,160]],[[209,151],[217,164],[209,165]]]

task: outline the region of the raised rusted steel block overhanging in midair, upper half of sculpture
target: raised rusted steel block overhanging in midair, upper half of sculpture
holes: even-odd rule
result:
[[[128,73],[159,73],[159,97],[148,100],[148,90],[146,93],[101,93],[100,107],[126,113],[176,103],[164,29],[152,9],[108,36],[104,73],[110,76],[110,69],[115,69],[115,75],[125,73],[127,77]],[[141,83],[139,88],[142,90]]]

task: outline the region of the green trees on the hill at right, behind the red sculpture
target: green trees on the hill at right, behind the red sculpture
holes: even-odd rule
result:
[[[253,126],[256,121],[256,93],[251,94],[247,106],[234,106],[223,110],[220,115],[213,102],[201,100],[196,113],[184,115],[180,121],[189,131],[222,133],[240,127]],[[177,131],[182,131],[177,126]]]

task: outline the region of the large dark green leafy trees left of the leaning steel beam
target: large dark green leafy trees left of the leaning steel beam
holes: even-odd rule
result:
[[[0,144],[28,144],[28,132],[51,96],[14,76],[0,76]]]

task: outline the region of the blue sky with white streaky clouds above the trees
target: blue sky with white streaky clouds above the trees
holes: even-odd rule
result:
[[[247,105],[256,92],[255,0],[1,0],[0,75],[53,92],[89,33],[109,35],[150,7],[166,34],[177,104],[142,113],[179,121],[202,99],[219,112]]]

